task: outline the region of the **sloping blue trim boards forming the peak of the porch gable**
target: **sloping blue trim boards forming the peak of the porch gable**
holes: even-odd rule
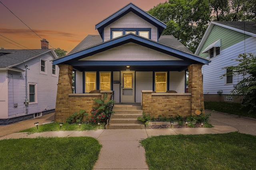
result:
[[[194,54],[186,53],[186,52],[180,51],[178,49],[174,49],[172,47],[160,44],[157,41],[152,41],[150,39],[140,37],[133,33],[129,33],[129,34],[123,35],[121,37],[111,39],[111,40],[101,43],[99,45],[90,47],[88,49],[78,51],[77,53],[72,53],[70,55],[66,55],[64,57],[54,59],[52,64],[53,65],[55,65],[55,64],[70,64],[71,61],[77,61],[79,59],[100,53],[102,51],[106,51],[108,49],[112,49],[114,47],[118,47],[120,45],[129,43],[129,42],[133,42],[138,45],[148,47],[150,49],[159,51],[161,53],[165,53],[167,55],[172,55],[172,56],[177,57],[182,60],[186,60],[186,61],[190,61],[190,62],[194,62],[194,63],[201,63],[201,64],[210,63],[210,61],[208,59],[198,57]],[[72,64],[70,64],[70,65],[72,65]]]

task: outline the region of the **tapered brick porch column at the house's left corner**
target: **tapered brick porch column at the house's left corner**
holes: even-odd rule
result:
[[[56,97],[55,121],[66,122],[69,114],[68,94],[72,93],[72,69],[68,64],[58,65],[60,68]]]

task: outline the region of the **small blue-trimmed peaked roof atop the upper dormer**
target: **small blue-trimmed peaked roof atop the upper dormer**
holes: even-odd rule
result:
[[[118,10],[108,18],[104,19],[103,21],[100,21],[95,25],[95,29],[98,29],[98,32],[100,33],[100,36],[103,37],[103,31],[104,27],[109,25],[110,23],[118,20],[122,16],[126,15],[129,12],[133,12],[134,14],[138,15],[139,17],[143,18],[144,20],[148,21],[152,25],[156,26],[158,28],[158,35],[162,34],[163,30],[166,28],[166,24],[162,21],[156,19],[152,15],[148,14],[144,10],[140,9],[139,7],[135,6],[134,4],[130,3],[126,6],[124,6],[122,9]]]

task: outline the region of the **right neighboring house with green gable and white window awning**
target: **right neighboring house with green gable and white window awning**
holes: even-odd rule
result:
[[[243,77],[226,76],[225,67],[236,66],[234,59],[243,53],[256,53],[256,22],[212,21],[208,26],[195,54],[210,59],[202,66],[205,101],[240,102],[230,95]]]

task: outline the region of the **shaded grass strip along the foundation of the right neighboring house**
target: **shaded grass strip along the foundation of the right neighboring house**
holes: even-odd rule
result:
[[[204,102],[204,108],[234,115],[256,118],[256,111],[253,113],[248,113],[250,109],[248,107],[242,107],[240,103]]]

